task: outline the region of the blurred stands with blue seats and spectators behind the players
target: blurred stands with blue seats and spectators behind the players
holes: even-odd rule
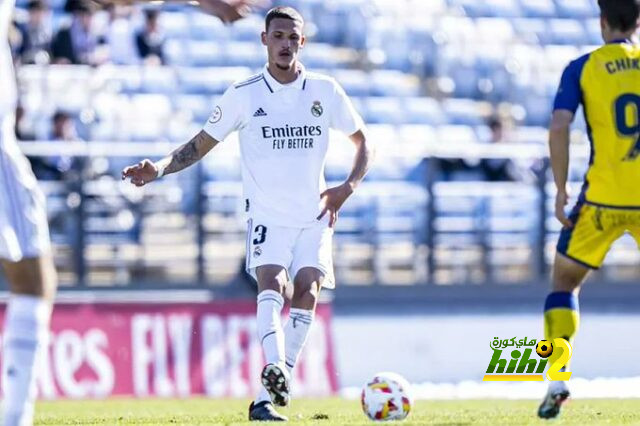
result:
[[[379,150],[337,225],[340,285],[544,282],[559,230],[545,126],[562,69],[602,42],[596,0],[287,4],[307,20],[302,61],[343,85]],[[247,280],[234,137],[144,190],[119,174],[187,141],[262,67],[264,13],[226,26],[187,5],[18,0],[16,135],[47,193],[64,285]],[[330,182],[352,161],[335,139]],[[580,113],[572,141],[577,195]],[[601,278],[637,280],[639,257],[623,238]]]

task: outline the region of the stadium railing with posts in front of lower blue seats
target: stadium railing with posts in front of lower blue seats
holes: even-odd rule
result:
[[[28,156],[72,156],[116,164],[159,158],[167,143],[23,142]],[[559,231],[554,188],[538,144],[427,143],[380,147],[378,163],[416,164],[398,176],[371,174],[343,207],[335,268],[343,285],[495,284],[545,280]],[[584,147],[573,151],[584,162]],[[441,181],[440,159],[535,159],[525,182]],[[409,161],[410,160],[410,161]],[[112,170],[42,182],[61,281],[71,288],[221,288],[244,281],[245,224],[237,153],[221,150],[184,173],[142,189]],[[328,170],[344,168],[330,154]],[[409,170],[410,169],[410,170]],[[374,167],[375,170],[375,167]],[[339,180],[328,173],[330,180]],[[574,183],[579,191],[579,183]],[[637,278],[638,253],[623,238],[602,274]]]

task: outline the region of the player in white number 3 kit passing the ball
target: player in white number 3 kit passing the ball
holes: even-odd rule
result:
[[[239,132],[248,216],[247,271],[258,282],[257,325],[266,366],[264,389],[250,420],[286,421],[273,404],[289,403],[289,377],[307,338],[321,287],[333,287],[332,237],[338,210],[363,179],[372,158],[364,124],[332,78],[298,61],[303,19],[290,7],[267,13],[262,43],[268,63],[230,87],[204,128],[166,158],[123,171],[137,186],[194,164],[233,131]],[[329,129],[356,146],[349,178],[327,189]],[[284,289],[293,280],[289,321],[280,321]]]

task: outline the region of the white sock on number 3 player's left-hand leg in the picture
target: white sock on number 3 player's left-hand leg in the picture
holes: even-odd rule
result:
[[[284,299],[277,291],[264,290],[258,294],[258,339],[267,364],[284,363],[284,332],[280,321],[283,305]],[[271,396],[261,386],[255,402],[262,401],[271,401]]]

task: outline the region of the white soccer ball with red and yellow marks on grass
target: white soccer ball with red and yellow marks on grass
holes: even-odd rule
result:
[[[396,373],[378,373],[362,389],[362,410],[371,420],[402,420],[409,415],[413,398],[409,383]]]

